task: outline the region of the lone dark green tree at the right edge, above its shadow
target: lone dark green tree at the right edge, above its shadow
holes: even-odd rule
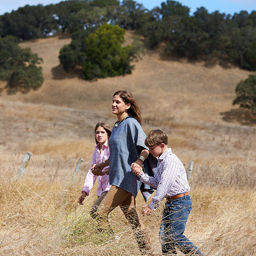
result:
[[[252,114],[256,115],[256,75],[249,75],[237,84],[235,104],[240,104],[240,108],[251,109]]]

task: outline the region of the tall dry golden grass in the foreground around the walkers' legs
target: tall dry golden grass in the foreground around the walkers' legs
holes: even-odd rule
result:
[[[185,233],[207,255],[256,253],[256,179],[250,163],[246,168],[236,166],[237,174],[220,165],[204,174],[199,169],[193,173],[190,182],[193,210]],[[223,172],[222,178],[217,177],[217,169]],[[106,233],[97,233],[98,226],[89,216],[96,187],[83,206],[76,201],[83,177],[72,183],[69,172],[58,179],[52,179],[54,173],[51,173],[44,180],[15,180],[10,166],[8,171],[11,178],[0,167],[0,255],[140,255],[132,230],[119,208],[110,214],[110,223],[121,236],[118,242]],[[240,182],[237,176],[244,179]],[[252,183],[247,182],[248,178]],[[140,214],[144,204],[138,195]],[[163,204],[159,208],[142,218],[155,253],[161,252],[158,231]]]

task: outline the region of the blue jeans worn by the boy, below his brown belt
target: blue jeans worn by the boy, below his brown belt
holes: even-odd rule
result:
[[[166,201],[159,232],[163,254],[177,254],[177,248],[184,254],[204,255],[183,235],[191,209],[190,196],[182,196]]]

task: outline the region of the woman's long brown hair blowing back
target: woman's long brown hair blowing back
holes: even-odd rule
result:
[[[122,100],[124,100],[125,104],[131,104],[131,107],[127,109],[127,114],[135,118],[141,125],[140,106],[137,100],[134,99],[132,93],[128,91],[117,91],[114,93],[114,96],[115,95],[118,95]]]

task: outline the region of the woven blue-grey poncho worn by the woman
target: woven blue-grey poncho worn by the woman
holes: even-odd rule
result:
[[[147,202],[154,188],[142,183],[131,170],[131,164],[138,159],[141,150],[148,149],[144,143],[145,138],[146,135],[139,122],[131,116],[124,119],[117,127],[113,127],[108,141],[109,184],[131,192],[134,197],[140,189]],[[156,158],[149,154],[143,163],[143,171],[149,176],[154,176],[156,166]]]

